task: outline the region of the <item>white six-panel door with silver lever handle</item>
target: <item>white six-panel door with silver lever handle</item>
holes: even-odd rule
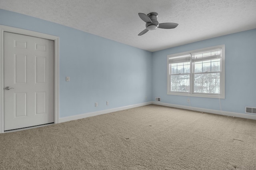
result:
[[[4,130],[54,122],[54,42],[4,32]]]

